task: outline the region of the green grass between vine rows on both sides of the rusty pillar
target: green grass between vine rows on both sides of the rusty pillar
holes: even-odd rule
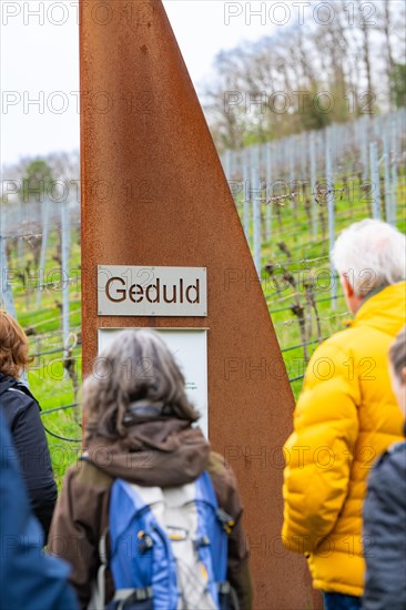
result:
[[[341,189],[342,184],[336,183],[335,189]],[[397,226],[402,231],[406,230],[405,217],[405,189],[406,189],[406,175],[402,174],[398,177],[398,206],[397,206]],[[358,197],[357,204],[348,201],[346,194],[342,199],[337,197],[336,201],[336,234],[342,228],[351,224],[352,222],[362,220],[363,217],[371,216],[367,202],[361,201],[362,193],[355,192],[355,196]],[[365,197],[364,197],[365,199]],[[237,209],[241,217],[243,216],[242,204],[237,202]],[[326,210],[321,203],[319,210],[323,210],[326,216]],[[303,347],[296,347],[283,353],[284,362],[288,372],[290,378],[300,377],[303,375],[306,366],[307,358],[312,355],[318,343],[318,332],[316,325],[316,316],[312,307],[308,305],[305,296],[305,289],[303,282],[311,281],[315,277],[319,278],[318,284],[313,291],[314,297],[321,303],[317,303],[317,312],[321,324],[321,336],[327,337],[333,333],[343,328],[343,322],[351,317],[345,299],[343,298],[343,292],[337,283],[337,296],[336,307],[333,308],[333,303],[329,299],[331,291],[325,282],[322,282],[322,272],[329,273],[328,263],[328,236],[324,235],[321,231],[321,221],[318,220],[318,231],[316,235],[312,235],[308,227],[308,217],[305,212],[303,201],[296,201],[296,209],[291,203],[286,203],[281,207],[282,223],[280,224],[275,214],[276,206],[273,204],[272,212],[272,238],[268,243],[263,241],[262,244],[262,287],[264,296],[266,298],[268,308],[272,314],[272,322],[276,332],[276,336],[282,349],[290,348],[302,344],[302,334],[300,331],[300,324],[297,317],[290,311],[292,305],[300,304],[305,309],[306,319],[306,337],[307,340],[313,340],[312,345],[307,347],[307,354],[304,353]],[[262,207],[262,215],[265,217],[266,206]],[[252,224],[250,227],[252,240]],[[57,254],[59,241],[59,233],[53,231],[50,233],[50,243],[47,253],[45,275],[58,266],[58,263],[53,260]],[[284,242],[290,256],[284,254],[277,244]],[[70,328],[73,333],[71,343],[77,337],[80,338],[81,332],[81,285],[80,285],[80,244],[78,230],[72,231],[71,236],[71,261],[70,270],[71,284],[70,284]],[[11,268],[21,268],[26,265],[27,261],[32,260],[32,251],[30,250],[29,242],[26,243],[23,250],[22,260],[18,260],[17,252],[11,252]],[[301,262],[303,260],[316,260],[311,262]],[[293,261],[293,262],[292,262]],[[276,289],[275,282],[264,271],[267,263],[273,263],[278,266],[280,275],[283,273],[283,268],[288,268],[296,281],[296,287],[293,288],[290,285],[284,284],[283,289],[280,292]],[[34,332],[30,339],[30,352],[32,355],[38,353],[45,353],[40,357],[35,357],[30,366],[29,382],[33,394],[38,397],[43,410],[57,408],[64,405],[71,405],[74,403],[74,394],[72,380],[69,378],[63,369],[61,352],[62,347],[62,328],[61,328],[61,311],[58,307],[58,302],[61,301],[62,295],[60,286],[49,286],[42,293],[41,307],[37,309],[37,279],[30,278],[28,288],[23,287],[22,282],[14,279],[12,284],[16,308],[18,319],[20,324],[26,328],[31,328]],[[285,311],[282,311],[285,309]],[[59,349],[59,352],[58,352]],[[54,352],[57,350],[57,352]],[[47,354],[47,352],[51,352]],[[78,373],[79,382],[81,382],[81,345],[80,342],[73,350],[73,355],[77,358],[75,370]],[[307,358],[306,358],[306,357]],[[302,379],[292,383],[292,389],[297,397],[302,388]],[[79,397],[80,399],[80,397]],[[80,439],[80,409],[70,408],[51,414],[43,415],[43,423],[49,430],[72,439]],[[64,471],[69,465],[73,464],[80,451],[79,443],[68,443],[60,440],[53,436],[48,436],[49,445],[51,448],[51,455],[55,475],[59,485],[63,478]]]

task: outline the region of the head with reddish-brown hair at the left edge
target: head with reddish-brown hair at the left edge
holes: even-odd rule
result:
[[[26,333],[12,316],[0,309],[0,373],[17,379],[29,362]]]

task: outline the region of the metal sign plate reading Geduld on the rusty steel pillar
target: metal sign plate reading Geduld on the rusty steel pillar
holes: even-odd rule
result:
[[[206,316],[206,268],[99,265],[98,313],[100,316]]]

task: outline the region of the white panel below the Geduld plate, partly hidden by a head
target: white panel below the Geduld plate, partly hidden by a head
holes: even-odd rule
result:
[[[135,331],[135,328],[132,328]],[[121,331],[99,328],[99,354]],[[185,378],[187,397],[201,414],[199,426],[209,434],[207,408],[207,331],[204,328],[154,328],[172,352]]]

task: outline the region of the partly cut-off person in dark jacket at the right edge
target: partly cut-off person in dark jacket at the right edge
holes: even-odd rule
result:
[[[389,350],[394,394],[406,415],[406,326]],[[406,431],[406,427],[405,427]],[[364,505],[364,610],[406,609],[406,443],[392,445],[371,471]]]

